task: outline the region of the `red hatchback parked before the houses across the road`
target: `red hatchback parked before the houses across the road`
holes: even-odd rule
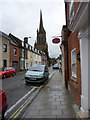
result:
[[[3,67],[0,68],[0,78],[6,78],[11,75],[15,75],[16,71],[13,67]]]

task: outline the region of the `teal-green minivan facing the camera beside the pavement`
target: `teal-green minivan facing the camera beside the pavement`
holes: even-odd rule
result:
[[[33,65],[25,74],[26,83],[43,83],[49,77],[47,65]]]

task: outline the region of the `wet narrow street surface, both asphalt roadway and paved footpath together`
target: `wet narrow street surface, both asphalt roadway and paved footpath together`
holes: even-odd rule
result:
[[[8,101],[5,118],[78,117],[79,109],[70,92],[63,86],[62,75],[52,68],[49,68],[49,73],[49,80],[38,86],[25,85],[24,74],[4,79],[3,84],[9,80],[7,84],[10,85],[4,88]],[[13,80],[17,82],[14,84]]]

